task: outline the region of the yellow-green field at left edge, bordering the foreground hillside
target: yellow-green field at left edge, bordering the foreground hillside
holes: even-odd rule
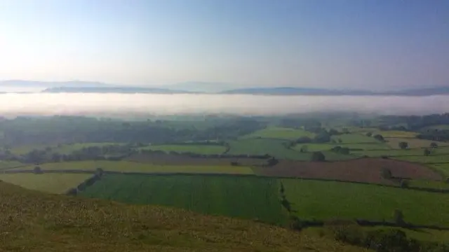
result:
[[[0,174],[0,180],[46,193],[65,193],[91,174]]]

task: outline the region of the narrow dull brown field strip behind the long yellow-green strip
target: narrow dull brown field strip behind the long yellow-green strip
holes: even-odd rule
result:
[[[145,162],[154,165],[231,165],[231,162],[239,162],[239,165],[253,166],[267,162],[258,158],[192,158],[187,155],[169,155],[163,153],[136,154],[127,161]]]

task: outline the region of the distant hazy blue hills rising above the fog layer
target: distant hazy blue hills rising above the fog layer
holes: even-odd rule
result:
[[[87,81],[40,82],[31,80],[0,81],[2,87],[41,88],[40,92],[84,92],[84,93],[150,93],[150,94],[255,94],[255,95],[398,95],[427,96],[449,94],[449,87],[426,87],[414,90],[399,90],[374,92],[369,90],[330,90],[309,87],[250,87],[234,88],[227,83],[187,82],[156,87],[131,87],[126,85],[111,85]]]

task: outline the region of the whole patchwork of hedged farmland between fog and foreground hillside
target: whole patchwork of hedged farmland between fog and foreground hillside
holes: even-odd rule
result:
[[[4,146],[0,180],[79,199],[159,205],[304,232],[326,234],[328,223],[339,221],[373,230],[449,229],[448,142],[419,131],[276,122],[251,129],[245,122],[222,130],[222,138],[215,135],[222,123],[208,122],[194,135],[192,127],[172,122],[166,141],[118,136]],[[173,137],[180,132],[189,137]]]

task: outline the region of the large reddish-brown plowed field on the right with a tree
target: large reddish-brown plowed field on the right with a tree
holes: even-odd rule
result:
[[[391,174],[396,178],[441,180],[439,174],[422,165],[380,158],[361,158],[339,162],[283,160],[275,167],[257,167],[254,169],[256,174],[264,176],[394,184],[394,181],[382,179],[382,168],[390,169]]]

